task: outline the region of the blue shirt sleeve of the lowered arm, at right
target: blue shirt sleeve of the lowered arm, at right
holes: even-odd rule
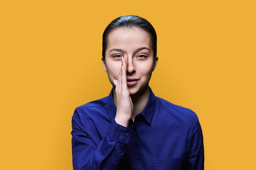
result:
[[[189,153],[187,170],[204,170],[204,143],[202,128],[198,117],[195,128],[193,128],[191,150]]]

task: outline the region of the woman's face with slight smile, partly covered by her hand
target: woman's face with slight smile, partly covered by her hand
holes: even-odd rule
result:
[[[108,35],[103,67],[113,86],[112,80],[118,79],[122,64],[121,57],[125,53],[128,55],[127,84],[132,96],[148,87],[158,57],[154,59],[150,35],[143,29],[133,27],[132,29],[118,28],[111,31]],[[130,82],[132,79],[136,79],[137,82]]]

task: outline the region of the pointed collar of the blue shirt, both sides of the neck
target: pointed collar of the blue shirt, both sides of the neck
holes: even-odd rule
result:
[[[115,116],[117,113],[117,107],[113,100],[113,88],[111,89],[110,94],[108,96],[107,106],[108,106],[108,112],[110,114],[111,119],[112,120],[115,119]],[[149,124],[150,124],[153,114],[155,112],[155,106],[156,106],[156,98],[155,98],[153,91],[149,87],[148,102],[147,102],[146,106],[144,107],[144,109],[140,113]]]

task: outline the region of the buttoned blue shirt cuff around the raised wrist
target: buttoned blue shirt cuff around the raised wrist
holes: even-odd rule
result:
[[[133,124],[131,121],[128,127],[124,127],[118,124],[115,119],[113,119],[107,131],[108,135],[110,135],[110,137],[116,139],[117,141],[121,141],[127,144],[133,128]]]

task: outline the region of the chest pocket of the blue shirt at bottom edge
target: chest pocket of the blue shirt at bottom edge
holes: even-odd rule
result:
[[[180,170],[185,162],[184,157],[152,157],[154,170]]]

